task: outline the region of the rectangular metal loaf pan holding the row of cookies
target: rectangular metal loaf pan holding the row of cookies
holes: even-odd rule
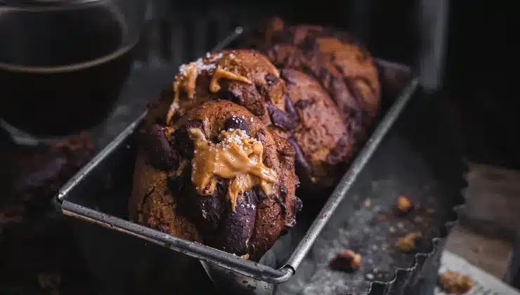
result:
[[[216,49],[226,48],[228,44],[240,37],[242,32],[242,28],[238,27]],[[96,188],[107,182],[104,179],[107,175],[105,171],[112,171],[111,177],[117,178],[117,180],[112,179],[112,183],[120,185],[117,195],[129,196],[131,172],[134,166],[133,157],[135,157],[136,152],[134,149],[134,133],[146,112],[138,116],[91,162],[63,185],[56,195],[56,206],[66,216],[123,232],[200,260],[208,275],[217,285],[216,287],[237,291],[238,294],[273,294],[276,285],[289,280],[299,268],[300,263],[329,221],[330,216],[342,200],[349,195],[349,189],[360,172],[363,171],[363,167],[377,150],[379,143],[396,122],[417,89],[417,78],[412,77],[408,67],[384,60],[377,60],[377,64],[383,69],[382,71],[393,73],[390,76],[410,77],[410,79],[398,95],[394,94],[395,90],[391,91],[386,86],[395,84],[382,81],[383,110],[377,127],[372,131],[372,135],[358,152],[356,159],[352,162],[332,195],[327,199],[319,214],[308,226],[303,237],[299,239],[290,256],[278,268],[242,259],[203,244],[189,242],[128,221],[125,219],[127,206],[124,198],[116,200],[115,196],[100,196],[96,192]],[[100,205],[107,203],[106,199],[112,197],[114,198],[112,204]],[[105,200],[100,201],[100,199]]]

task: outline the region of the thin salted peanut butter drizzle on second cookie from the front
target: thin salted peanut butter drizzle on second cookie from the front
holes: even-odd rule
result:
[[[212,59],[206,58],[205,60],[199,59],[193,63],[189,63],[188,65],[183,66],[185,69],[181,71],[181,73],[177,74],[177,77],[174,81],[174,101],[171,103],[170,108],[168,110],[166,122],[167,125],[170,124],[171,117],[173,117],[176,109],[179,107],[179,91],[183,90],[186,92],[188,99],[195,98],[195,90],[197,87],[197,77],[202,71],[208,71],[212,73],[212,79],[209,82],[209,91],[212,93],[216,93],[221,89],[219,85],[220,79],[230,79],[235,81],[241,81],[247,84],[253,84],[253,82],[247,77],[244,77],[240,74],[235,74],[228,70],[224,70],[220,65],[215,65],[215,63],[222,58],[222,54],[216,55]],[[210,73],[211,74],[211,73]]]

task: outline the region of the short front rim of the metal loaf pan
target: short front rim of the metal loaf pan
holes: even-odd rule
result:
[[[111,230],[124,232],[134,237],[140,237],[143,240],[160,244],[163,247],[168,247],[193,258],[213,263],[221,268],[240,273],[240,275],[245,275],[255,280],[279,284],[289,280],[294,274],[294,269],[290,265],[275,270],[269,266],[261,265],[233,254],[215,251],[214,248],[203,244],[183,240],[122,218],[100,213],[85,206],[68,202],[66,199],[63,200],[60,207],[62,213],[67,216],[95,223]]]

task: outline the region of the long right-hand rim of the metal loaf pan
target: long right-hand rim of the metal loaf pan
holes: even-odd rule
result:
[[[417,84],[418,79],[412,79],[408,86],[406,86],[406,88],[401,93],[401,99],[399,99],[394,105],[392,105],[390,110],[388,110],[382,119],[382,122],[377,126],[377,129],[375,129],[374,133],[372,133],[372,136],[370,136],[370,139],[365,144],[365,147],[363,147],[363,150],[360,151],[358,157],[356,157],[354,162],[351,164],[349,171],[347,171],[342,180],[339,181],[339,185],[337,185],[337,187],[334,189],[334,192],[332,192],[332,195],[323,206],[323,209],[321,209],[320,214],[318,214],[318,218],[314,220],[305,236],[301,239],[301,242],[299,242],[296,249],[294,249],[292,252],[292,255],[290,256],[289,260],[287,260],[285,267],[290,267],[292,270],[297,270],[298,266],[300,265],[301,261],[304,260],[321,230],[325,224],[327,224],[327,221],[329,221],[330,216],[332,216],[332,213],[334,213],[339,203],[343,201],[346,193],[349,191],[354,181],[356,181],[359,173],[363,170],[363,167],[368,162],[370,157],[372,157],[372,154],[379,146],[381,140],[384,138],[386,133],[388,133],[391,126],[399,117],[399,114],[401,114],[401,111],[408,103],[408,100],[410,100],[412,97],[412,94],[417,88]]]

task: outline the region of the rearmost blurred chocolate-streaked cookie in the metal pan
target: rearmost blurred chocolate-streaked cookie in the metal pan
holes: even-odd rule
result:
[[[273,18],[245,46],[265,53],[276,67],[301,70],[319,81],[349,130],[364,138],[381,91],[370,53],[353,37],[315,25],[287,26]]]

